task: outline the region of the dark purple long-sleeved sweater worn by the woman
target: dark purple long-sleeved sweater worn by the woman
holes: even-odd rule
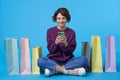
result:
[[[64,43],[55,44],[55,39],[58,36],[59,31],[61,30],[58,30],[57,26],[52,27],[47,31],[47,48],[50,52],[47,56],[50,59],[65,62],[74,57],[73,51],[76,48],[76,36],[75,32],[68,27],[66,30],[62,30],[65,32],[68,42],[68,45],[65,47]]]

